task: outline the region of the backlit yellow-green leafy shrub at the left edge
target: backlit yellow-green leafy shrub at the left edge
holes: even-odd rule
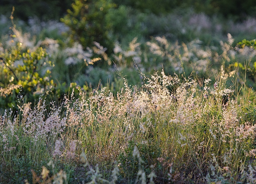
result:
[[[40,95],[53,93],[54,82],[49,78],[52,62],[45,49],[24,50],[22,43],[18,43],[0,54],[1,108],[15,105],[18,94],[34,102]]]

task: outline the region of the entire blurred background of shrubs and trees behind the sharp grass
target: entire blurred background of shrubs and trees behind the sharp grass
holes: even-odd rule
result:
[[[2,0],[0,12],[2,108],[18,87],[28,101],[70,87],[116,93],[122,77],[141,86],[140,72],[162,68],[214,82],[221,65],[238,67],[256,87],[253,0]]]

